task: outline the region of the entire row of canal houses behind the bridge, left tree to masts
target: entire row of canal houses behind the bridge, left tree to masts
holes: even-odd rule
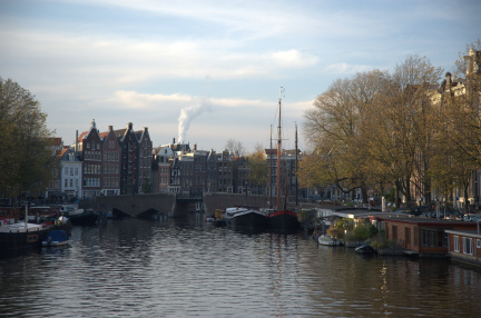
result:
[[[100,132],[95,120],[90,128],[76,133],[75,143],[63,146],[53,139],[53,153],[60,158],[60,172],[49,185],[48,197],[92,199],[97,196],[136,193],[173,193],[199,196],[203,192],[252,193],[276,196],[277,160],[274,150],[266,149],[265,158],[272,165],[272,187],[259,187],[248,178],[246,158],[228,150],[190,149],[188,143],[153,147],[148,129],[134,130],[131,122],[125,129]],[[295,150],[285,150],[281,157],[282,189],[294,193]],[[287,185],[286,185],[287,183]],[[272,190],[271,190],[272,189]]]

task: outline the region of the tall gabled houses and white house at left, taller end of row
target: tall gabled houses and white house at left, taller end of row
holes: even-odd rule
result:
[[[63,147],[61,139],[53,141],[60,157],[60,173],[48,189],[48,196],[88,199],[96,196],[143,192],[141,183],[150,180],[151,141],[148,129],[126,129],[100,132],[95,120],[90,129],[76,133],[75,143]]]

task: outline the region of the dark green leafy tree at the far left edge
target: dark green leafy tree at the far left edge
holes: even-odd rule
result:
[[[46,190],[59,168],[46,120],[35,96],[0,78],[0,196]]]

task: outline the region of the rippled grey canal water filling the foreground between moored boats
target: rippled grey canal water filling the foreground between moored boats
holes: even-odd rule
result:
[[[0,317],[479,317],[481,271],[188,221],[75,227],[0,260]]]

